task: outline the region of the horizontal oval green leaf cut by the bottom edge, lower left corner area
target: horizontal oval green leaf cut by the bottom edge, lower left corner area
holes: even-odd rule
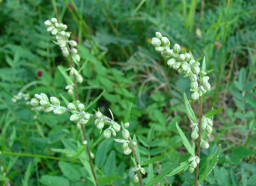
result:
[[[46,174],[40,178],[40,182],[43,185],[47,185],[47,186],[56,186],[56,185],[68,186],[69,185],[69,180],[67,180],[64,177],[51,176]]]

